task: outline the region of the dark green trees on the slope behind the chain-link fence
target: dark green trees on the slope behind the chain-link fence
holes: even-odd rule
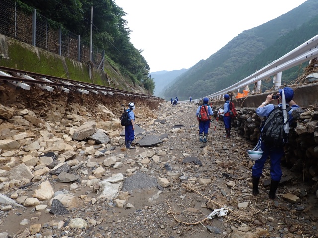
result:
[[[14,2],[14,0],[12,0]],[[154,90],[154,81],[148,77],[149,65],[130,42],[130,29],[123,17],[126,13],[114,0],[16,0],[19,9],[48,18],[51,28],[64,29],[80,35],[89,42],[90,15],[93,6],[94,47],[104,49],[107,62],[134,85]],[[88,63],[88,62],[87,62]]]

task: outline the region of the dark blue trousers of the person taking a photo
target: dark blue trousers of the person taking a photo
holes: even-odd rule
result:
[[[252,168],[253,177],[260,177],[263,171],[264,164],[270,156],[270,176],[274,181],[280,181],[282,178],[282,169],[280,167],[280,160],[284,155],[283,147],[268,147],[264,144],[260,145],[263,150],[263,156],[255,161],[255,165]]]

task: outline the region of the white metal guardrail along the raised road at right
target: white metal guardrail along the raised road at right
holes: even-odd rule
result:
[[[272,63],[268,64],[267,66],[263,67],[262,69],[258,70],[257,72],[249,75],[248,77],[244,78],[243,80],[227,87],[219,92],[207,95],[205,97],[208,98],[222,98],[224,94],[229,91],[235,91],[240,88],[244,88],[250,84],[254,84],[258,82],[258,86],[260,89],[260,81],[268,78],[273,75],[279,75],[281,72],[290,69],[296,65],[299,65],[303,62],[312,60],[318,57],[318,35],[314,36],[310,40],[304,42],[300,46],[296,47],[294,50],[288,52],[286,55],[282,56],[281,58],[273,61]],[[281,77],[281,75],[279,76]],[[280,86],[280,81],[278,81],[275,86]],[[198,101],[199,99],[194,99],[192,101]],[[182,101],[182,102],[187,102]]]

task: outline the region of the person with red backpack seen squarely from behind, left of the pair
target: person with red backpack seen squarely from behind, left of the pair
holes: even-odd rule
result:
[[[199,121],[199,141],[208,142],[207,135],[210,127],[210,121],[213,115],[212,108],[209,106],[209,99],[204,98],[203,104],[196,111],[196,116]]]

